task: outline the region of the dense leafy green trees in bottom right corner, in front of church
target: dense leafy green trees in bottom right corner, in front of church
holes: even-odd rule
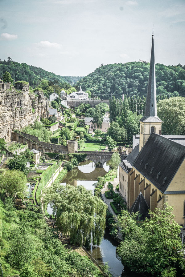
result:
[[[149,211],[150,219],[145,219],[141,226],[136,221],[138,214],[122,211],[117,216],[115,225],[121,227],[124,239],[117,253],[131,271],[148,272],[154,276],[182,276],[185,260],[180,252],[180,226],[175,222],[172,211],[173,208],[167,204],[164,210],[156,208],[154,212]],[[175,271],[177,275],[170,275]]]

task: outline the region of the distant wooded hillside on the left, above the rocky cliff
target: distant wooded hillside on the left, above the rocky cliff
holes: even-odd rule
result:
[[[14,62],[10,57],[7,61],[2,61],[0,59],[0,78],[2,75],[8,71],[11,74],[11,77],[16,81],[26,81],[30,83],[30,86],[39,85],[42,79],[52,80],[58,83],[71,82],[75,84],[81,77],[76,76],[60,76],[52,72],[46,71],[40,67],[29,66],[26,63]]]

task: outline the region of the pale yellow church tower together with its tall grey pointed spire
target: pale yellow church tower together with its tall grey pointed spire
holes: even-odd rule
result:
[[[145,115],[140,119],[139,151],[145,145],[151,133],[161,134],[162,120],[157,116],[156,84],[155,84],[155,56],[154,34],[152,32],[152,50],[150,71],[146,95]]]

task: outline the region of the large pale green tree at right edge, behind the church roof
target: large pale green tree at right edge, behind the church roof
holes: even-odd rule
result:
[[[162,120],[162,134],[184,135],[185,132],[185,98],[171,97],[160,100],[157,115]]]

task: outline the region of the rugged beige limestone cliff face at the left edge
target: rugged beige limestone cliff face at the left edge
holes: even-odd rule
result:
[[[48,101],[43,92],[33,94],[29,91],[29,85],[16,90],[10,86],[10,90],[0,88],[0,138],[10,142],[13,129],[20,130],[40,121],[48,115]]]

